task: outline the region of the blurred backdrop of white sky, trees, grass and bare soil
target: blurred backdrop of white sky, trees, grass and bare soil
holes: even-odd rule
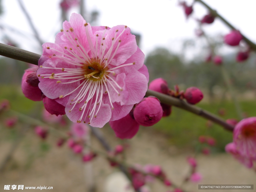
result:
[[[256,42],[255,1],[205,2]],[[256,56],[251,52],[248,60],[238,63],[236,53],[241,48],[223,43],[223,36],[230,30],[217,18],[211,25],[202,27],[204,36],[196,35],[196,29],[201,28],[197,19],[208,13],[201,4],[195,3],[193,15],[186,18],[176,0],[84,0],[82,8],[79,3],[74,4],[65,10],[65,14],[60,3],[60,0],[22,1],[41,42],[54,42],[63,20],[69,20],[73,12],[82,13],[87,22],[94,26],[127,25],[145,54],[150,81],[162,77],[170,89],[174,89],[175,85],[180,90],[192,86],[200,88],[204,99],[198,106],[223,119],[239,120],[241,116],[256,116]],[[187,3],[190,5],[192,1]],[[18,1],[1,0],[0,5],[0,41],[41,54],[38,37],[33,33]],[[241,44],[243,46],[243,42]],[[231,92],[220,67],[206,59],[212,53],[223,57],[222,67],[228,72]],[[22,75],[29,67],[31,65],[28,63],[0,57],[0,100],[8,99],[12,110],[44,121],[42,102],[25,98],[21,91]],[[56,146],[59,138],[57,133],[49,134],[44,141],[35,135],[33,128],[21,134],[19,130],[22,124],[18,123],[15,128],[6,126],[8,115],[0,116],[0,164],[5,162],[12,147],[15,148],[0,172],[0,191],[4,185],[13,184],[53,186],[53,191],[88,191],[88,185],[92,184],[95,191],[118,191],[117,187],[109,189],[111,174],[118,169],[110,167],[103,157],[97,157],[92,162],[91,177],[88,178],[80,157],[74,155],[66,145],[61,148]],[[70,129],[69,120],[64,117],[64,121],[66,123],[63,125],[54,124],[63,133]],[[255,171],[247,169],[225,153],[225,145],[232,142],[232,133],[187,111],[173,107],[169,117],[162,118],[152,127],[141,127],[138,134],[127,141],[116,138],[108,124],[101,132],[112,146],[127,146],[127,162],[161,165],[168,177],[178,185],[183,185],[189,172],[186,162],[189,155],[196,155],[198,159],[198,171],[202,174],[199,184],[256,185]],[[198,141],[201,135],[213,137],[216,144],[201,144]],[[19,142],[14,145],[17,140]],[[91,145],[103,150],[93,136]],[[205,149],[209,153],[204,152]],[[197,190],[197,184],[187,183],[183,186],[188,191]],[[149,188],[150,191],[167,191],[158,182],[150,184]]]

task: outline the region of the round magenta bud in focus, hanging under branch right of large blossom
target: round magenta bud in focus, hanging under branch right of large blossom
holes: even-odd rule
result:
[[[133,115],[140,125],[152,126],[162,118],[163,109],[159,100],[150,96],[143,98],[140,103],[136,104]]]

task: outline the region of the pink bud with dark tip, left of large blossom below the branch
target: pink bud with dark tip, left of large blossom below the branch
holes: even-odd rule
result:
[[[42,91],[38,87],[38,77],[36,74],[38,68],[26,69],[22,77],[22,92],[25,97],[33,101],[42,100]]]

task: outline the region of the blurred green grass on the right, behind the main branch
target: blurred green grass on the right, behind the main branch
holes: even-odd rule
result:
[[[240,104],[243,112],[246,112],[248,116],[256,116],[255,101],[244,101]],[[217,114],[220,107],[225,108],[226,115],[223,116],[224,119],[237,118],[234,104],[231,102],[223,102],[221,105],[218,103],[203,103],[198,106],[214,114]],[[197,147],[200,135],[210,135],[216,139],[217,143],[216,147],[213,148],[214,151],[224,151],[225,145],[232,142],[232,133],[221,126],[214,124],[209,128],[206,126],[206,119],[176,107],[172,109],[172,114],[169,117],[162,118],[161,121],[154,125],[154,128],[159,132],[167,134],[170,143],[177,147]]]

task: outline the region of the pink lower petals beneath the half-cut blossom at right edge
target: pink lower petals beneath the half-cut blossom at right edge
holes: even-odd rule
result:
[[[238,161],[240,161],[242,164],[244,164],[248,168],[251,168],[253,166],[252,158],[242,156],[240,152],[237,150],[237,146],[234,142],[227,144],[225,147],[225,151],[227,153],[232,154],[234,158],[236,158]]]

